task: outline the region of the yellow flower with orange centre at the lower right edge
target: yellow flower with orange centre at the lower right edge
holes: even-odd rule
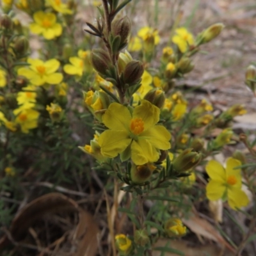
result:
[[[232,209],[248,205],[248,197],[241,189],[241,169],[237,169],[237,166],[241,165],[241,162],[229,157],[226,164],[227,167],[223,168],[220,163],[211,160],[205,167],[210,177],[210,181],[206,186],[207,198],[212,201],[220,198],[223,200],[227,199]]]

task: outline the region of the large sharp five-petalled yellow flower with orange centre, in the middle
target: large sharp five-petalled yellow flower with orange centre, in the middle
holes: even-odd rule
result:
[[[102,122],[109,128],[99,137],[102,155],[113,158],[128,149],[127,155],[136,165],[156,162],[159,149],[170,148],[171,138],[164,126],[156,125],[159,114],[160,109],[147,100],[141,100],[132,114],[121,104],[110,104],[102,116]]]

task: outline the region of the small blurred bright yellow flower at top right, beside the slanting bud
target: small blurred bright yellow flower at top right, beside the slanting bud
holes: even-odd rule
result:
[[[178,28],[175,32],[177,35],[173,36],[172,42],[178,45],[180,52],[188,51],[188,46],[194,44],[193,35],[186,28]]]

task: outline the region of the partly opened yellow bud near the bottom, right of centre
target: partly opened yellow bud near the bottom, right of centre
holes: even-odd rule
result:
[[[180,237],[186,234],[186,227],[178,218],[171,218],[164,223],[164,231],[169,237]]]

